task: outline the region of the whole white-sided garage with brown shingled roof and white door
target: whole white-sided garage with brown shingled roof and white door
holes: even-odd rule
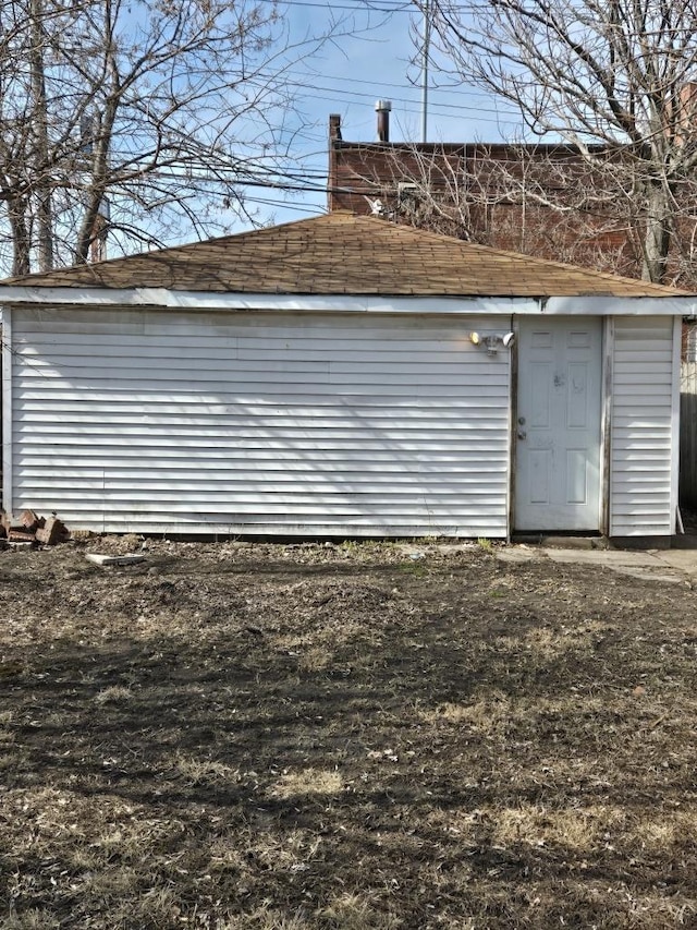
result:
[[[670,538],[696,303],[342,213],[12,279],[3,508],[100,532]]]

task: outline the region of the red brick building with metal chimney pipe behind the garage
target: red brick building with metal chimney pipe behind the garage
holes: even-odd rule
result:
[[[616,155],[598,170],[572,145],[393,143],[389,108],[376,104],[372,143],[344,140],[340,116],[330,116],[330,212],[377,213],[497,249],[641,276],[641,238],[621,172],[613,171]],[[696,228],[682,220],[689,255],[674,250],[670,283],[697,283]]]

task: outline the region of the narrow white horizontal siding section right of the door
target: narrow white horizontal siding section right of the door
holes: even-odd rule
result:
[[[671,534],[673,319],[615,319],[612,373],[610,534]]]

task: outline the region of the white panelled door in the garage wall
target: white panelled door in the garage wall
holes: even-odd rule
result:
[[[600,529],[598,317],[522,318],[515,529]]]

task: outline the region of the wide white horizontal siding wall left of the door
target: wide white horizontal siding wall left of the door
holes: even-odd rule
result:
[[[482,317],[13,312],[13,509],[98,531],[505,536]]]

